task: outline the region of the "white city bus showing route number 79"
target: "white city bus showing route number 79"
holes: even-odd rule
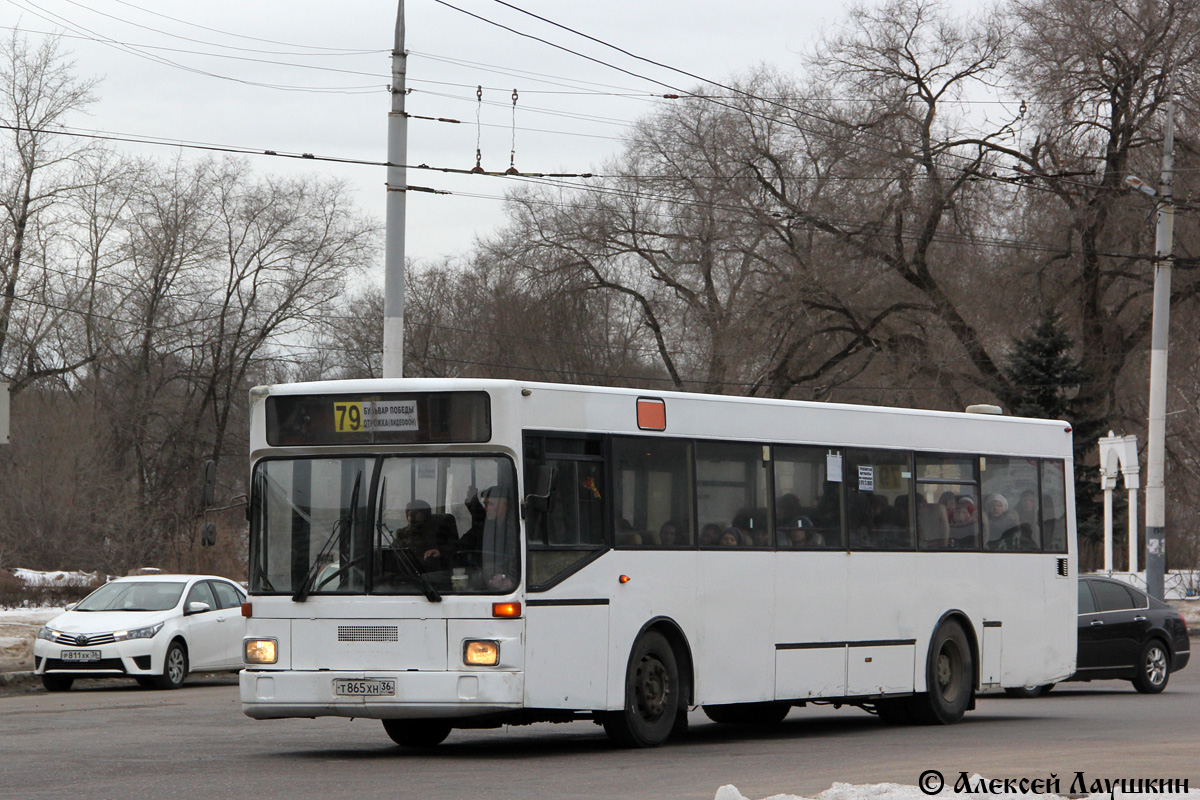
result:
[[[254,718],[652,746],[695,706],[950,723],[1074,672],[1064,422],[461,379],[251,401]]]

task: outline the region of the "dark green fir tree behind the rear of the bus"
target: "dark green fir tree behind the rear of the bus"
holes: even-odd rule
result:
[[[1042,314],[1037,327],[1014,341],[1013,354],[1004,367],[1009,389],[1001,402],[1015,416],[1066,420],[1073,428],[1075,451],[1075,523],[1081,540],[1098,542],[1104,530],[1104,501],[1099,468],[1085,465],[1105,433],[1106,420],[1090,416],[1075,402],[1087,373],[1072,356],[1074,342],[1062,329],[1058,315]]]

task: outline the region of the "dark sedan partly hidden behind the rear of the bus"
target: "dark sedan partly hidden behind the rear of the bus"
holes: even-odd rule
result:
[[[1172,606],[1121,581],[1079,578],[1079,656],[1068,680],[1122,679],[1142,693],[1166,688],[1192,655],[1188,626]],[[1006,690],[1037,697],[1054,684]]]

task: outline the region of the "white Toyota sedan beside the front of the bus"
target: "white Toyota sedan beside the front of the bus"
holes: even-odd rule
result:
[[[210,575],[118,578],[37,632],[34,672],[52,692],[76,678],[178,688],[191,670],[242,668],[246,594]]]

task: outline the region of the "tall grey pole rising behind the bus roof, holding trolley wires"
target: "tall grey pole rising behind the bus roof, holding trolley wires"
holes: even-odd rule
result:
[[[404,215],[408,174],[408,114],[404,112],[404,0],[396,8],[391,50],[391,113],[388,114],[388,207],[383,276],[383,377],[404,377]]]

